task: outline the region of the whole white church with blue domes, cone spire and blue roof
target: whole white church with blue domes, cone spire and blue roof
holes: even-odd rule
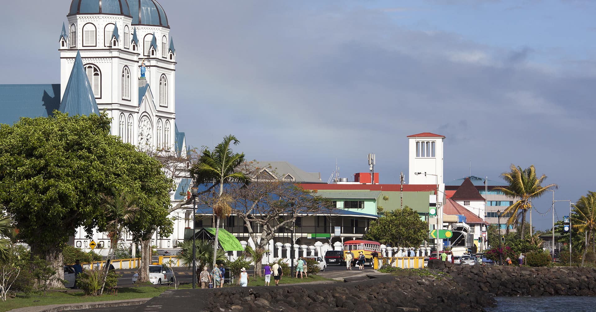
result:
[[[58,39],[60,83],[0,85],[0,124],[48,116],[54,109],[70,115],[107,112],[111,134],[125,143],[184,157],[185,134],[176,127],[176,50],[162,6],[155,0],[72,0],[67,10]],[[185,199],[181,194],[191,181],[184,168],[170,178],[176,183],[173,206]],[[191,212],[173,212],[174,233],[154,237],[153,244],[173,248],[184,239]],[[91,239],[107,254],[104,233]],[[79,228],[72,244],[88,248],[91,239]]]

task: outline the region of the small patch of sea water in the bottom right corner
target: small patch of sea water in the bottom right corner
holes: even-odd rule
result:
[[[496,297],[488,312],[596,312],[596,297]]]

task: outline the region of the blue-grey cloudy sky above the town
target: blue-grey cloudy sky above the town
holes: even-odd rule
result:
[[[247,159],[327,181],[408,182],[406,135],[445,135],[445,181],[513,163],[596,191],[596,1],[160,1],[176,45],[176,124],[190,146],[228,134]],[[68,0],[0,12],[0,84],[59,83]],[[551,206],[549,192],[534,201]],[[569,204],[556,204],[556,219]],[[552,216],[534,213],[537,229]]]

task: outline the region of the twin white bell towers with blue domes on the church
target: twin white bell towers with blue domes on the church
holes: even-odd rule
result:
[[[73,0],[60,37],[64,94],[77,51],[111,134],[148,149],[175,148],[176,52],[155,0]],[[144,77],[142,77],[144,76]]]

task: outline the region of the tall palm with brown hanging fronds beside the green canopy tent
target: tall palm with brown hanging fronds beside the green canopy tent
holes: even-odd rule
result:
[[[197,184],[213,182],[219,184],[219,194],[213,204],[213,216],[215,218],[215,239],[213,240],[213,266],[215,266],[216,254],[219,245],[219,221],[226,218],[231,213],[229,201],[231,198],[222,196],[224,194],[224,184],[234,181],[238,183],[247,183],[249,178],[238,170],[244,162],[244,153],[234,153],[231,144],[240,143],[234,135],[224,137],[224,141],[219,143],[213,150],[206,149],[198,157],[197,164],[191,169],[191,174],[195,177]]]

